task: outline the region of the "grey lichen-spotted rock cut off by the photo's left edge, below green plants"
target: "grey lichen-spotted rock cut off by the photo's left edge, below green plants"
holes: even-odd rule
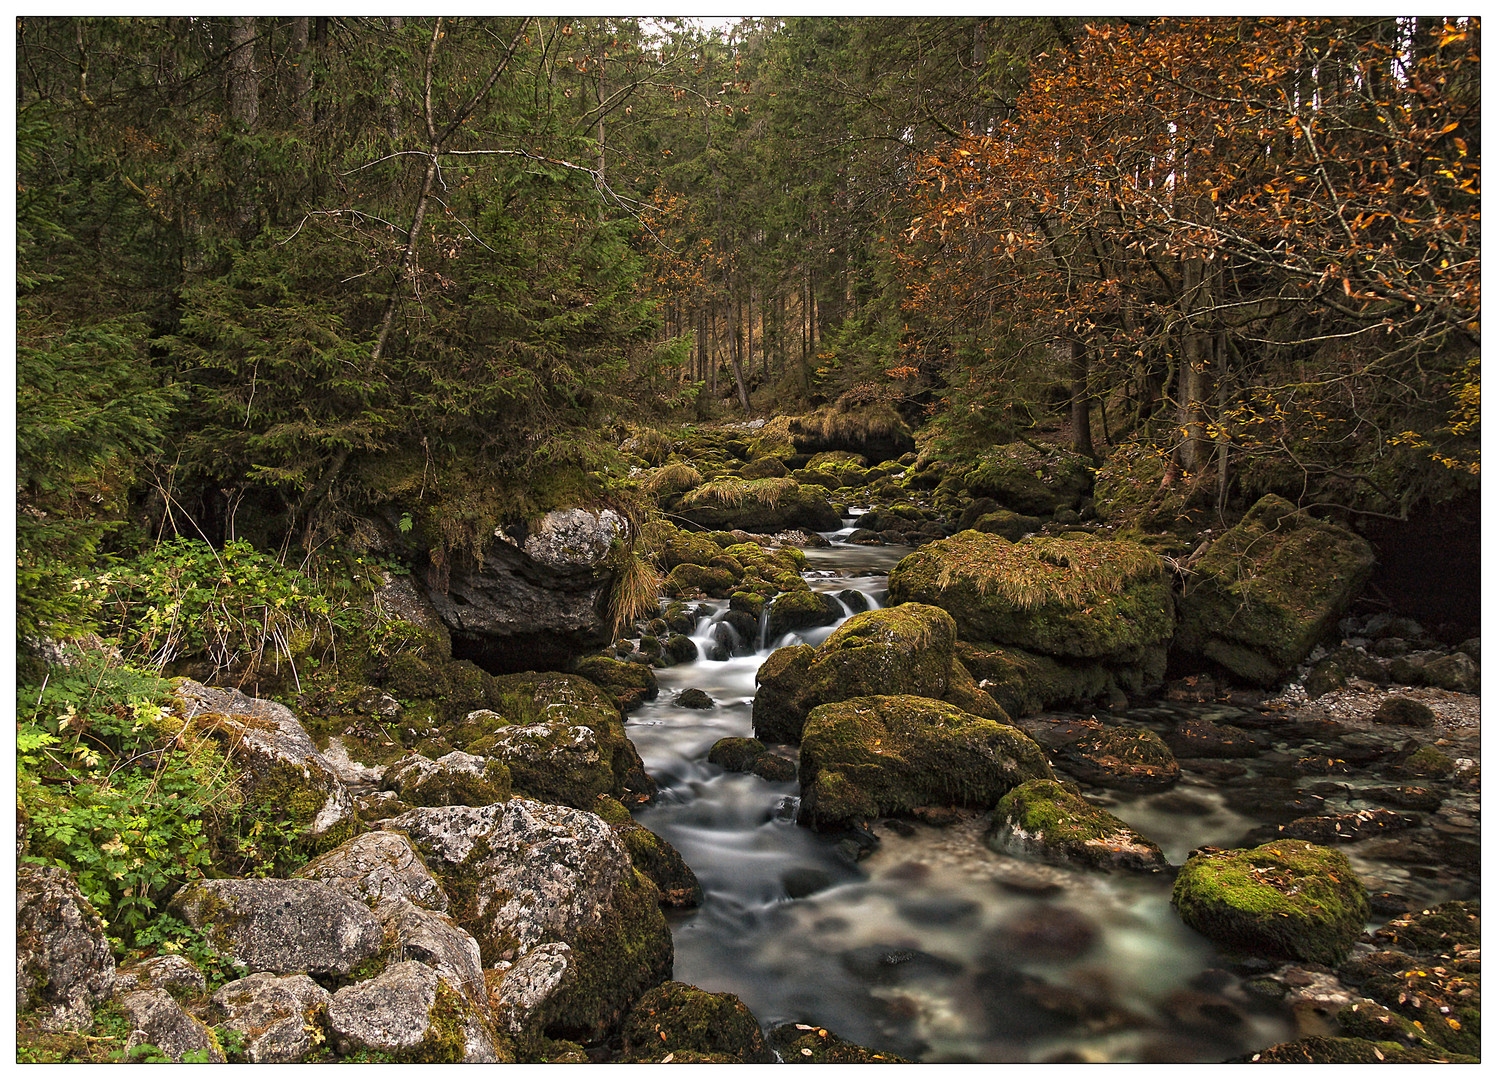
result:
[[[49,1031],[82,1029],[114,990],[105,923],[61,867],[15,867],[15,1010]]]

